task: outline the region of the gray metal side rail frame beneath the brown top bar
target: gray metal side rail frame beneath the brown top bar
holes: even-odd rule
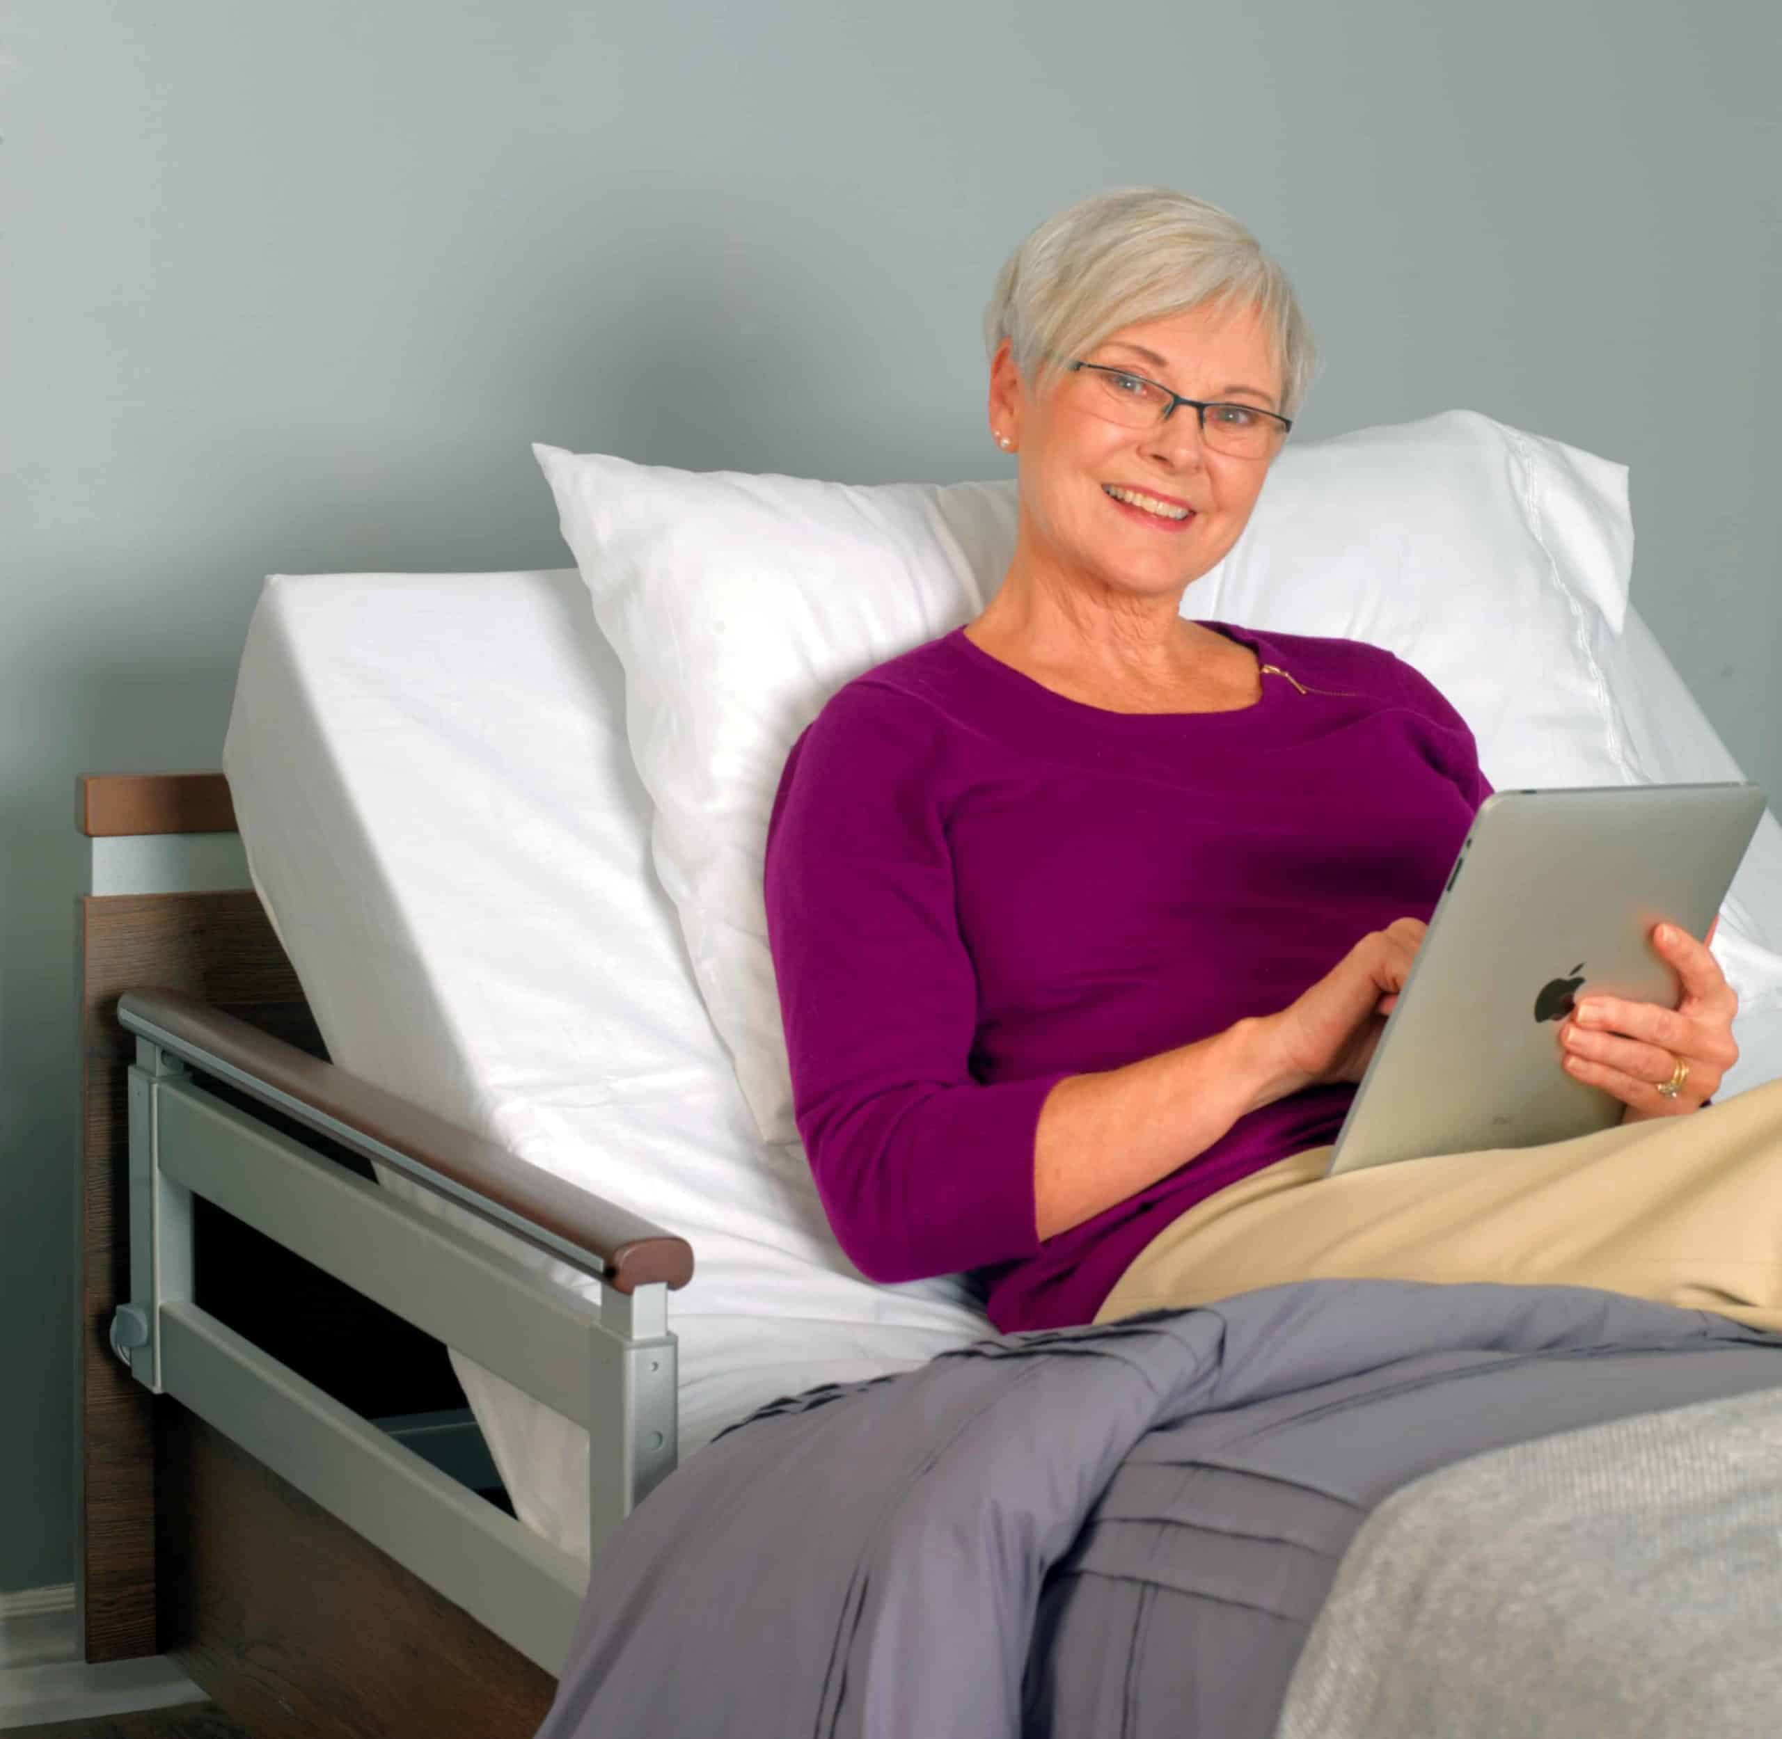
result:
[[[216,1203],[586,1425],[590,1559],[674,1472],[677,1372],[668,1290],[684,1276],[615,1285],[620,1276],[611,1253],[527,1221],[369,1130],[258,1080],[221,1046],[180,1033],[175,1028],[185,1003],[175,992],[144,991],[123,996],[118,1008],[135,1035],[135,1064],[128,1071],[130,1302],[112,1317],[112,1351],[137,1383],[173,1395],[547,1673],[560,1675],[588,1566],[194,1304],[192,1197]],[[328,1067],[294,1049],[292,1057]],[[574,1265],[599,1281],[597,1299],[552,1285],[497,1245],[257,1121],[207,1090],[192,1071]],[[645,1238],[670,1238],[643,1221],[624,1219]]]

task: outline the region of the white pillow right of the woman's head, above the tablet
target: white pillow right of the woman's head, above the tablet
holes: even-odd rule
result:
[[[1288,444],[1183,615],[1388,647],[1493,786],[1638,782],[1602,649],[1634,561],[1627,467],[1452,410]]]

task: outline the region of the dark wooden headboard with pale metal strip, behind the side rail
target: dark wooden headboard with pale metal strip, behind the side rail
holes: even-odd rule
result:
[[[249,878],[221,773],[86,775],[75,900],[75,1620],[87,1661],[162,1652],[155,1627],[155,1397],[110,1351],[130,1297],[127,1069],[118,996],[169,985],[305,1049],[315,1026]]]

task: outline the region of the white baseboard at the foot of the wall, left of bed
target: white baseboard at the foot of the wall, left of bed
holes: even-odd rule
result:
[[[0,1595],[0,1732],[201,1702],[205,1693],[164,1655],[87,1666],[73,1582]]]

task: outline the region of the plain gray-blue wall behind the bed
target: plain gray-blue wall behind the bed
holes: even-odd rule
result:
[[[567,565],[533,440],[1005,474],[998,264],[1171,184],[1287,264],[1304,438],[1629,463],[1782,784],[1775,0],[12,0],[0,57],[0,1589],[73,1573],[75,773],[219,764],[269,570]]]

